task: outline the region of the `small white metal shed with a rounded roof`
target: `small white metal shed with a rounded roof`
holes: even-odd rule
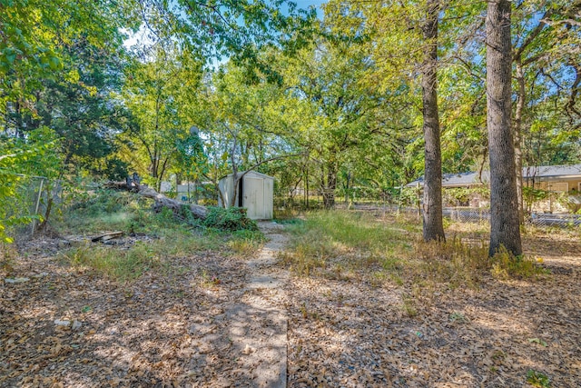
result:
[[[218,187],[227,203],[248,209],[248,217],[252,220],[272,219],[272,199],[274,197],[274,177],[257,173],[256,171],[239,172],[238,191],[234,195],[234,174],[224,176]],[[222,198],[218,203],[222,205]]]

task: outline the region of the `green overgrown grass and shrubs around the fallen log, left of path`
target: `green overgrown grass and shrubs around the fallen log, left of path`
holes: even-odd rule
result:
[[[121,248],[84,243],[61,254],[74,266],[127,282],[148,271],[175,271],[171,266],[174,257],[224,248],[224,254],[252,254],[264,242],[256,223],[240,209],[212,209],[211,214],[211,219],[201,222],[168,209],[153,213],[151,202],[143,197],[104,190],[79,196],[55,228],[65,234],[123,231],[134,236],[135,242]]]

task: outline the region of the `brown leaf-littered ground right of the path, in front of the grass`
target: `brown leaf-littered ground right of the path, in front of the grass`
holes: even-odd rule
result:
[[[481,238],[464,227],[452,225],[448,235]],[[478,290],[375,284],[358,274],[294,277],[287,290],[289,385],[522,387],[535,371],[550,386],[581,386],[576,235],[526,235],[527,254],[553,274],[487,277]]]

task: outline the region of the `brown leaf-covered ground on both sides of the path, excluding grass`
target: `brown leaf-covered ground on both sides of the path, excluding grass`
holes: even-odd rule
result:
[[[431,289],[414,316],[396,284],[291,276],[276,302],[289,317],[288,385],[522,387],[535,371],[581,386],[581,242],[535,234],[525,247],[551,275]],[[0,386],[255,386],[226,314],[251,258],[192,254],[118,284],[64,264],[61,249],[23,247],[8,269],[22,283],[0,271]]]

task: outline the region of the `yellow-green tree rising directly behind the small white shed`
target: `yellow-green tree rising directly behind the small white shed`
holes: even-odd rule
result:
[[[266,76],[249,81],[244,68],[222,65],[191,105],[190,115],[201,129],[207,155],[200,171],[216,186],[224,207],[235,205],[238,183],[246,172],[297,156],[283,138],[281,86],[269,83]],[[226,174],[234,181],[228,200],[218,186]]]

